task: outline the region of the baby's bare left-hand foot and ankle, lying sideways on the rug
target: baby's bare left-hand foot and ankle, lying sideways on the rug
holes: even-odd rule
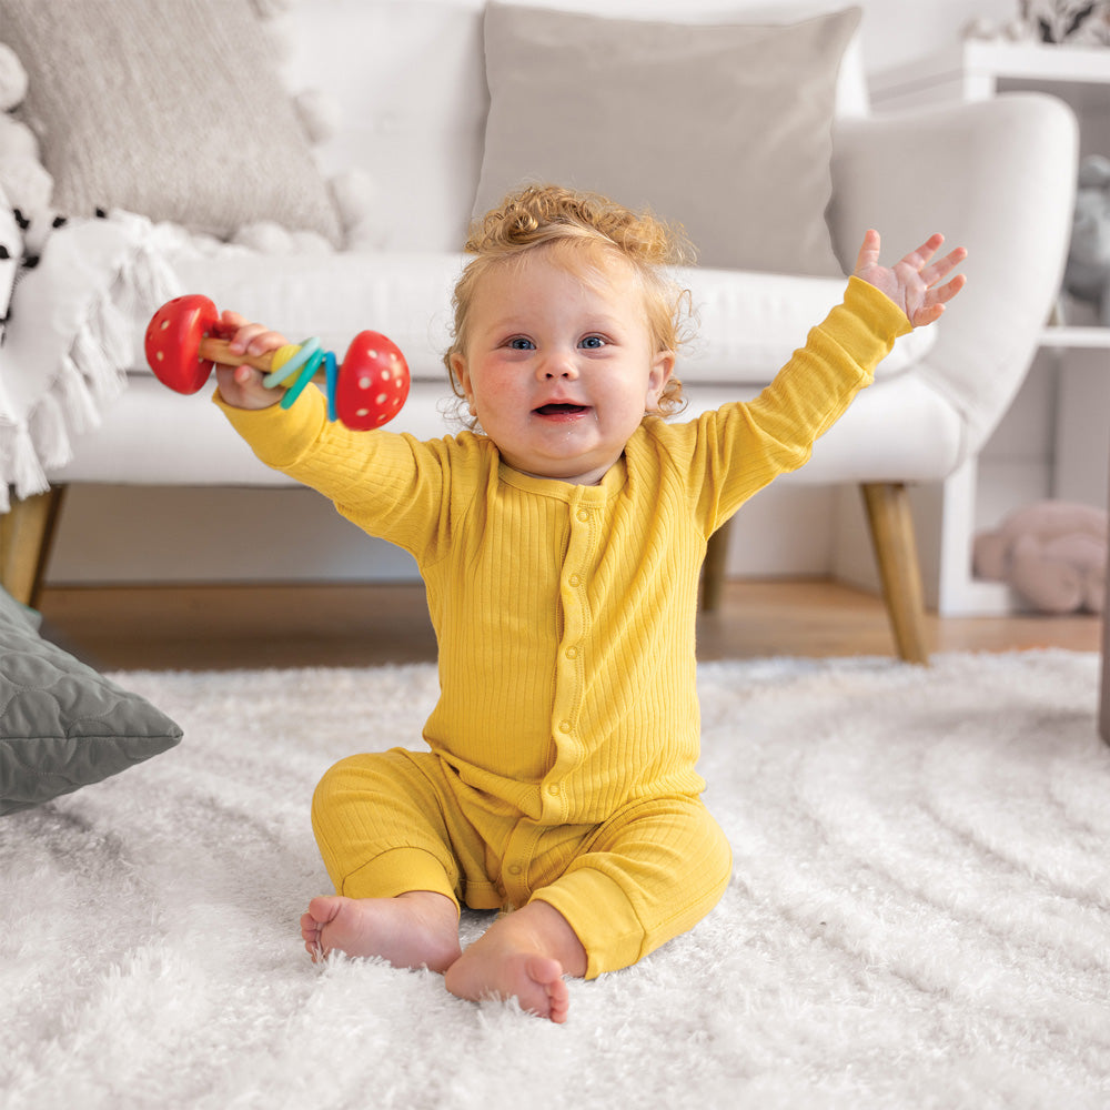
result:
[[[340,951],[380,956],[398,968],[446,971],[458,959],[458,911],[431,890],[396,898],[313,898],[301,918],[301,936],[312,958]]]

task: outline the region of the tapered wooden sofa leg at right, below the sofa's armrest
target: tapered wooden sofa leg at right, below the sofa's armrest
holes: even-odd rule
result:
[[[909,493],[905,485],[894,482],[864,483],[860,491],[898,655],[907,663],[928,664],[925,592]]]

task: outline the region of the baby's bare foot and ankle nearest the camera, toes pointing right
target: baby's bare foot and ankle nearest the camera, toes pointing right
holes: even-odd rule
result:
[[[515,998],[522,1009],[563,1022],[569,1006],[563,976],[585,973],[586,950],[566,918],[534,901],[495,921],[444,981],[460,998]]]

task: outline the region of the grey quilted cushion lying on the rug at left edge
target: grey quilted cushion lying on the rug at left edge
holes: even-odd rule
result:
[[[42,639],[0,591],[0,815],[99,783],[181,739],[181,729]]]

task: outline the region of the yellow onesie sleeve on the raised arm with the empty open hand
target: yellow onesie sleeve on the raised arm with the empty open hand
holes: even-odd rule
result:
[[[755,400],[695,421],[692,493],[706,535],[779,474],[805,464],[814,443],[871,384],[894,341],[911,330],[889,297],[851,278],[842,303]]]

